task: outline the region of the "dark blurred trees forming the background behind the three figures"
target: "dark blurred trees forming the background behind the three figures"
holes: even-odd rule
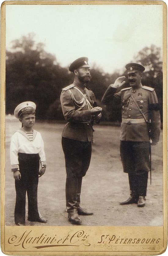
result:
[[[31,33],[22,36],[20,40],[12,41],[11,51],[6,51],[6,113],[13,114],[16,105],[23,101],[34,101],[38,119],[64,119],[60,93],[62,88],[73,82],[73,74],[68,71],[68,67],[61,67],[54,55],[44,50],[44,44],[35,43],[34,36]],[[155,88],[162,116],[163,63],[160,48],[155,45],[145,47],[128,62],[145,66],[142,84]],[[101,98],[108,85],[114,83],[117,77],[124,75],[126,84],[123,88],[129,87],[126,71],[109,74],[95,66],[91,75],[88,87],[95,93],[99,106],[102,106]],[[118,111],[120,106],[102,107],[104,120],[121,120],[121,111]]]

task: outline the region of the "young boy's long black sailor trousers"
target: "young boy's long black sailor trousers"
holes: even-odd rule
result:
[[[15,223],[24,223],[26,216],[26,191],[28,197],[28,219],[39,218],[37,206],[37,187],[39,171],[39,155],[18,153],[21,179],[15,180],[16,205]]]

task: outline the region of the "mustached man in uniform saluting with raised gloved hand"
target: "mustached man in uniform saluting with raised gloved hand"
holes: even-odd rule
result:
[[[104,93],[102,102],[122,105],[120,155],[123,171],[128,173],[130,197],[120,204],[137,203],[143,207],[150,171],[150,143],[156,145],[160,135],[159,105],[154,88],[141,84],[144,66],[129,63],[126,69],[131,87],[116,93],[116,89],[125,83],[125,77],[117,78]],[[149,123],[152,127],[150,133]]]

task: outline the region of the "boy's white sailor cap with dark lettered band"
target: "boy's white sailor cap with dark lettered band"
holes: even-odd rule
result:
[[[23,114],[27,110],[33,110],[35,111],[36,104],[32,101],[25,101],[17,105],[17,107],[14,110],[14,116],[16,118],[20,118],[20,115]]]

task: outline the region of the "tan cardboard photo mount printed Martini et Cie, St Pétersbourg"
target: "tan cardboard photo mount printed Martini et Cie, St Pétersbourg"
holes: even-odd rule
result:
[[[163,6],[163,225],[5,225],[5,9],[7,5]],[[5,1],[1,6],[1,249],[8,255],[158,255],[167,247],[167,7],[163,1]],[[156,202],[157,203],[157,202]],[[148,206],[147,206],[148,207]]]

